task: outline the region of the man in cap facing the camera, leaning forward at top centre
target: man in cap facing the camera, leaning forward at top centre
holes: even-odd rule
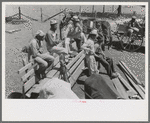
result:
[[[70,51],[70,41],[72,39],[81,39],[81,42],[86,42],[86,37],[84,33],[82,32],[82,27],[80,25],[80,20],[78,16],[73,16],[72,18],[73,24],[69,24],[66,29],[66,34],[65,34],[65,47],[67,48],[68,52],[71,53]],[[77,41],[76,41],[77,42]],[[78,50],[81,48],[81,42],[77,42]]]

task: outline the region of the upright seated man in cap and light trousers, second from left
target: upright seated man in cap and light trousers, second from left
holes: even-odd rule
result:
[[[60,43],[58,39],[58,33],[57,33],[57,21],[56,20],[51,20],[50,21],[50,29],[46,33],[45,36],[45,41],[46,41],[46,46],[47,50],[53,54],[56,53],[58,55],[60,54],[65,54],[67,55],[68,52],[65,48],[57,46],[58,43]]]

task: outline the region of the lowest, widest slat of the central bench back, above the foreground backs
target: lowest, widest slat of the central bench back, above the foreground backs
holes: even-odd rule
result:
[[[81,62],[81,64],[78,66],[78,68],[75,70],[75,72],[72,74],[72,76],[69,78],[69,82],[71,84],[71,87],[74,86],[77,78],[79,77],[79,75],[82,72],[82,69],[84,67],[84,61]]]

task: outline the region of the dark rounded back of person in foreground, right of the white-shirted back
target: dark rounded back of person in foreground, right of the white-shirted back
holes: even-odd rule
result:
[[[119,94],[111,83],[106,82],[101,75],[93,74],[85,80],[85,91],[93,99],[117,99]]]

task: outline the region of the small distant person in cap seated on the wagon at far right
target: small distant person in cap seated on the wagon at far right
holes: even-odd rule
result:
[[[136,32],[136,33],[139,32],[139,29],[137,27],[142,28],[139,25],[139,23],[136,21],[136,17],[132,16],[132,19],[128,23],[128,34],[129,34],[128,36],[129,36],[129,40],[131,40],[131,36],[132,36],[133,32]]]

